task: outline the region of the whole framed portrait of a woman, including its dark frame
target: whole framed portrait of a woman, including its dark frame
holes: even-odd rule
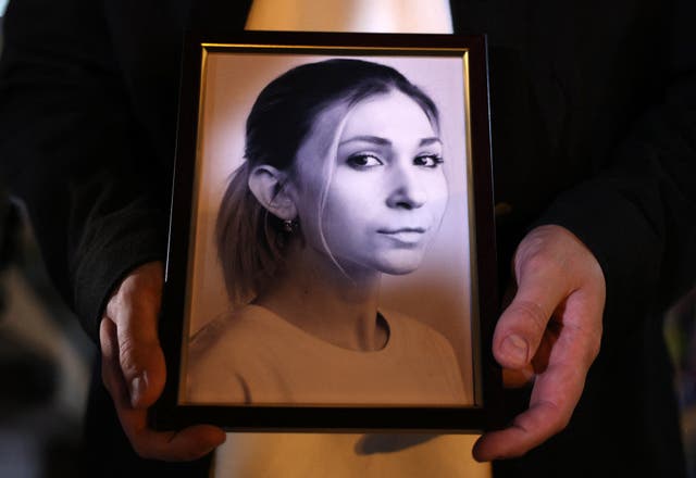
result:
[[[194,37],[156,426],[494,427],[485,37]]]

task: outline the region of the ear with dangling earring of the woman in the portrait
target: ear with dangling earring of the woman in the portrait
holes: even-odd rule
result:
[[[263,207],[283,219],[297,217],[297,207],[288,190],[287,174],[268,164],[256,166],[249,174],[249,189]]]

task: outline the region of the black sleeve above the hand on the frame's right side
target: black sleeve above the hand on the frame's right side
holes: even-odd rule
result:
[[[537,223],[569,228],[599,260],[606,317],[623,317],[608,332],[696,285],[696,8],[678,3],[662,101],[637,118],[610,167],[561,194]]]

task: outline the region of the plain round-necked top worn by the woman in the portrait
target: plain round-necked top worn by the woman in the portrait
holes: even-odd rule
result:
[[[247,305],[196,335],[187,395],[195,403],[471,405],[449,341],[405,315],[383,313],[388,340],[344,349],[271,311]]]

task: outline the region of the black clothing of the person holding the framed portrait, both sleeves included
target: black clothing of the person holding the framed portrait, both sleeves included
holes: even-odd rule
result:
[[[182,32],[241,29],[250,2],[195,4],[13,0],[7,11],[2,174],[97,343],[113,287],[164,256]],[[452,15],[458,33],[488,34],[496,201],[510,206],[501,282],[538,224],[572,230],[607,279],[602,349],[568,429],[496,475],[683,476],[661,315],[696,276],[694,2],[462,0]],[[101,476],[137,474],[146,465],[104,394],[97,385],[90,457]]]

